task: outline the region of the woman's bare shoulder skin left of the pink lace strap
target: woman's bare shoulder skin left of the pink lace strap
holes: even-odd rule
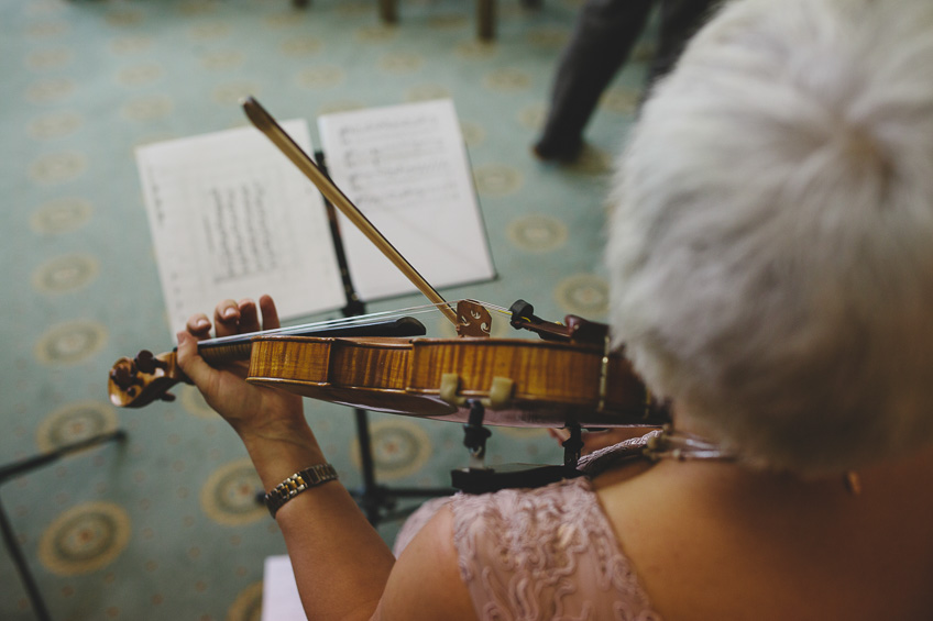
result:
[[[450,508],[439,510],[399,555],[373,618],[475,621],[460,577]]]

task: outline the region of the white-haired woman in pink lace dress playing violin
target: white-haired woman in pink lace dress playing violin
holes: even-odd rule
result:
[[[457,496],[397,559],[321,466],[275,503],[308,618],[933,618],[930,67],[929,0],[727,4],[612,196],[614,337],[672,429]],[[211,324],[272,300],[191,318],[178,362],[266,489],[326,464],[299,398],[199,358]]]

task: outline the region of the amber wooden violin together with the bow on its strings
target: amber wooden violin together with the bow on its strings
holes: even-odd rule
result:
[[[669,421],[622,352],[610,351],[608,328],[568,315],[552,323],[519,300],[502,309],[461,300],[450,304],[382,236],[365,215],[252,98],[249,119],[339,208],[455,326],[454,339],[424,337],[411,317],[336,320],[322,324],[201,341],[209,364],[249,359],[246,381],[373,411],[466,422],[481,407],[484,423],[508,426],[659,425]],[[540,340],[492,339],[491,311]],[[175,352],[114,363],[108,377],[114,406],[138,408],[188,381]]]

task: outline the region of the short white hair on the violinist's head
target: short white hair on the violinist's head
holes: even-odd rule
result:
[[[933,2],[739,0],[658,84],[612,196],[616,343],[756,466],[933,442]]]

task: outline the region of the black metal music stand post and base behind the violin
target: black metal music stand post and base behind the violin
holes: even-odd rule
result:
[[[323,153],[315,152],[315,159],[320,169],[327,174]],[[343,281],[343,291],[347,296],[347,306],[342,309],[344,317],[359,317],[365,313],[365,304],[356,295],[350,267],[347,263],[347,254],[343,249],[343,239],[340,235],[340,225],[337,220],[337,210],[325,198],[327,218],[330,223],[330,234],[333,239],[334,254],[340,266],[340,275]],[[360,444],[360,466],[363,475],[363,485],[359,489],[350,490],[366,519],[374,526],[384,521],[398,520],[407,517],[418,506],[397,509],[398,500],[402,498],[437,498],[450,496],[452,488],[389,488],[376,483],[375,461],[373,459],[372,436],[370,435],[369,413],[355,408],[356,440]]]

